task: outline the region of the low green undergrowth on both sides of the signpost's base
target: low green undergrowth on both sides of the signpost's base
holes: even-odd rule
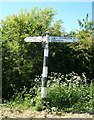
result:
[[[39,78],[37,78],[39,79]],[[90,85],[84,73],[82,76],[72,72],[65,76],[61,73],[51,73],[48,80],[46,109],[50,112],[93,112],[94,105],[94,85]],[[23,111],[32,108],[38,111],[44,109],[41,101],[41,88],[37,90],[37,96],[32,98],[32,94],[18,94],[15,100],[9,102],[11,109]]]

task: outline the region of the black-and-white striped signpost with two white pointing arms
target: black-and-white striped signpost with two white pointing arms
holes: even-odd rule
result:
[[[47,86],[47,76],[48,76],[48,43],[49,42],[77,42],[77,38],[72,37],[57,37],[49,36],[46,33],[45,37],[26,37],[24,39],[26,42],[43,42],[44,43],[44,60],[43,60],[43,71],[42,71],[42,88],[41,88],[41,98],[42,100],[46,99],[46,86]]]

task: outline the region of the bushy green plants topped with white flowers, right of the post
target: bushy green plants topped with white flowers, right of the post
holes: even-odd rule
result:
[[[87,84],[84,74],[80,77],[74,72],[66,76],[54,73],[48,85],[47,102],[51,108],[92,112],[91,85]]]

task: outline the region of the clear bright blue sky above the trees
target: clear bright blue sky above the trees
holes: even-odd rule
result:
[[[79,29],[77,20],[89,14],[92,20],[92,2],[1,2],[1,18],[11,14],[19,14],[20,9],[51,7],[57,11],[54,20],[62,20],[66,32]]]

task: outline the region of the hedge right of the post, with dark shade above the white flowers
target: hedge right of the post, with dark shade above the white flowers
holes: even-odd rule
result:
[[[94,47],[92,47],[93,24],[89,21],[88,15],[83,20],[79,20],[81,29],[71,31],[65,36],[77,37],[77,43],[51,43],[49,71],[61,72],[62,74],[72,71],[81,75],[83,72],[90,79],[94,78]],[[83,24],[83,25],[82,25]],[[85,25],[86,24],[86,25]],[[87,27],[85,27],[87,26]],[[58,64],[57,64],[58,63]],[[90,81],[89,81],[90,83]]]

